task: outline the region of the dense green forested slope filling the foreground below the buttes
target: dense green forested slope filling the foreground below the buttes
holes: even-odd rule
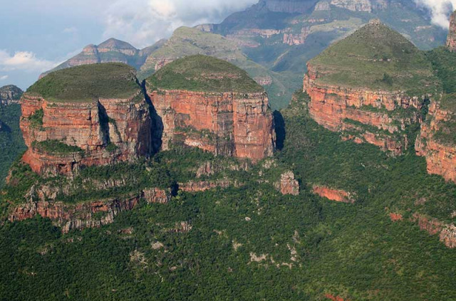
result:
[[[276,114],[283,148],[273,164],[230,173],[238,187],[180,192],[68,234],[42,218],[6,221],[0,300],[456,300],[455,250],[413,221],[454,221],[456,186],[427,175],[413,149],[395,158],[342,142],[309,119],[306,101],[298,94]],[[157,177],[179,182],[198,158],[211,155],[175,150],[152,161]],[[299,196],[274,188],[286,169]],[[356,202],[322,199],[314,184]]]

